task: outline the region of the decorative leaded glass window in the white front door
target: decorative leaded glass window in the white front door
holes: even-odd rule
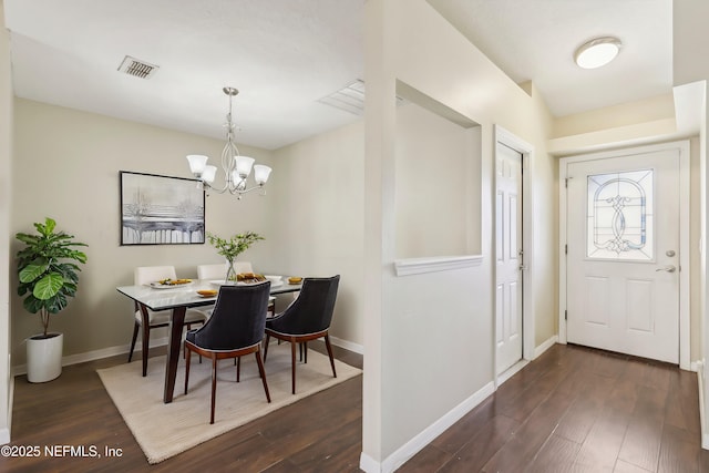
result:
[[[588,176],[588,258],[653,260],[653,169]]]

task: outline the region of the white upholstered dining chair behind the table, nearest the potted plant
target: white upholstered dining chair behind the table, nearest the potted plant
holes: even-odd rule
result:
[[[161,279],[177,279],[174,266],[140,266],[135,268],[133,274],[133,281],[137,285],[145,285]],[[151,340],[151,329],[158,327],[167,327],[172,317],[169,310],[153,311],[148,308],[143,308],[147,315],[148,323],[143,323],[143,312],[137,302],[135,302],[135,325],[133,327],[133,339],[131,340],[131,351],[129,352],[129,363],[133,359],[133,350],[135,349],[135,341],[137,340],[137,332],[142,328],[143,338],[143,376],[147,373],[147,350]],[[207,320],[207,316],[196,309],[187,309],[185,312],[185,326],[187,329],[192,328],[193,323],[204,323]]]

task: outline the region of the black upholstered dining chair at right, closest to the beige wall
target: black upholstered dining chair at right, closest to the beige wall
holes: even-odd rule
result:
[[[294,394],[296,393],[296,343],[305,343],[307,353],[308,341],[323,337],[325,346],[330,356],[332,376],[337,378],[328,330],[330,329],[330,322],[332,320],[339,282],[339,275],[330,278],[305,278],[298,298],[281,313],[273,319],[266,320],[264,361],[266,361],[266,357],[268,356],[270,337],[290,342],[291,384]]]

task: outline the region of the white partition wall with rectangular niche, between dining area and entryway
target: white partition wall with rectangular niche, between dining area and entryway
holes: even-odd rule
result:
[[[530,268],[537,340],[554,331],[556,165],[551,116],[424,0],[366,6],[366,282],[361,466],[389,471],[470,409],[493,380],[492,158],[494,124],[535,146],[538,266]],[[395,277],[397,81],[481,124],[477,267]],[[538,217],[537,217],[538,215]],[[412,415],[415,413],[415,415]]]

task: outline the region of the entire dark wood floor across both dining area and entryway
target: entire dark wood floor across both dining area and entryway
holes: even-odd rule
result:
[[[336,354],[361,368],[360,356]],[[110,446],[122,449],[121,457],[0,457],[0,471],[359,471],[361,377],[148,465],[95,373],[123,361],[66,367],[45,384],[18,378],[12,429],[12,445]],[[697,379],[666,364],[555,346],[400,471],[709,472]]]

